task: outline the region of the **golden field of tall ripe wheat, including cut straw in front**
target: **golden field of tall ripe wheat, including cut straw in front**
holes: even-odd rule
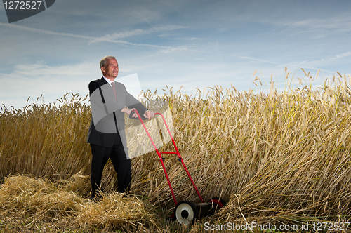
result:
[[[293,79],[286,74],[284,91],[272,80],[266,91],[145,91],[151,110],[168,103],[173,137],[201,195],[227,201],[188,227],[166,221],[174,204],[155,152],[132,159],[127,197],[114,192],[117,175],[109,163],[104,199],[88,200],[88,97],[1,107],[0,232],[211,232],[205,222],[351,222],[351,77],[337,72],[317,89],[294,86]],[[263,88],[257,77],[254,82]],[[176,158],[166,155],[165,166],[178,201],[199,203]]]

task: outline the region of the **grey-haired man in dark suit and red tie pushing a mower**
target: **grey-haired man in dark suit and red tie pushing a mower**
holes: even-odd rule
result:
[[[98,201],[102,171],[110,158],[117,172],[118,192],[127,192],[131,185],[131,160],[126,147],[124,115],[138,119],[133,109],[145,119],[154,117],[154,112],[144,107],[126,91],[124,84],[116,79],[119,67],[116,58],[105,56],[100,60],[102,78],[91,81],[91,125],[87,142],[91,145],[91,197]]]

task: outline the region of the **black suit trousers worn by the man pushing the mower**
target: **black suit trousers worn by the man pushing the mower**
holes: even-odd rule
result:
[[[91,197],[95,197],[95,191],[100,189],[102,171],[109,158],[117,172],[117,191],[128,191],[131,185],[131,159],[127,159],[123,144],[121,140],[118,141],[112,147],[91,145]]]

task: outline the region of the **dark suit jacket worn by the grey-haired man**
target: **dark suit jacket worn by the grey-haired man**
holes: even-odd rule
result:
[[[147,108],[126,91],[124,84],[116,81],[114,83],[117,101],[112,87],[103,77],[89,84],[92,116],[87,142],[102,147],[112,147],[116,138],[120,137],[126,151],[124,113],[121,109],[135,108],[140,115],[143,115]]]

